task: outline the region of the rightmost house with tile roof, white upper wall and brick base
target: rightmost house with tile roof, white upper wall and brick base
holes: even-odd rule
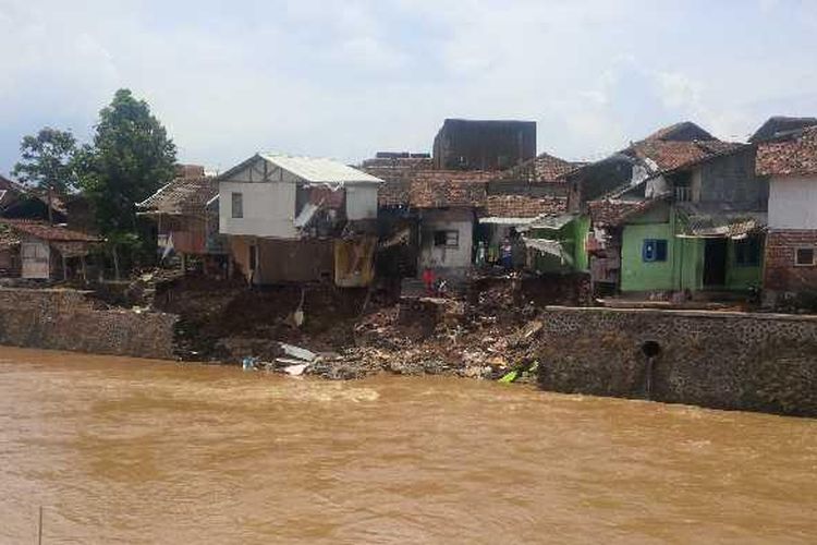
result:
[[[817,128],[759,144],[757,173],[769,181],[766,302],[817,292]]]

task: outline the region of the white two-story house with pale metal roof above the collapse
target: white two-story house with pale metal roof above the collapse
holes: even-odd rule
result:
[[[366,286],[380,183],[331,159],[256,154],[218,178],[219,231],[252,283]]]

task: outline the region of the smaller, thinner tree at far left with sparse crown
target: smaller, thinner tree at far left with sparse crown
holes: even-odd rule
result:
[[[24,136],[20,144],[21,160],[12,175],[48,196],[48,220],[53,225],[53,195],[64,195],[76,186],[73,161],[76,138],[71,131],[46,126],[36,135]]]

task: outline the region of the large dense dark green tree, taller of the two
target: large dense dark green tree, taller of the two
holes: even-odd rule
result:
[[[175,152],[147,102],[129,89],[119,89],[99,112],[93,144],[76,156],[80,184],[108,240],[117,277],[122,249],[130,250],[133,257],[151,246],[136,216],[136,203],[173,178]]]

